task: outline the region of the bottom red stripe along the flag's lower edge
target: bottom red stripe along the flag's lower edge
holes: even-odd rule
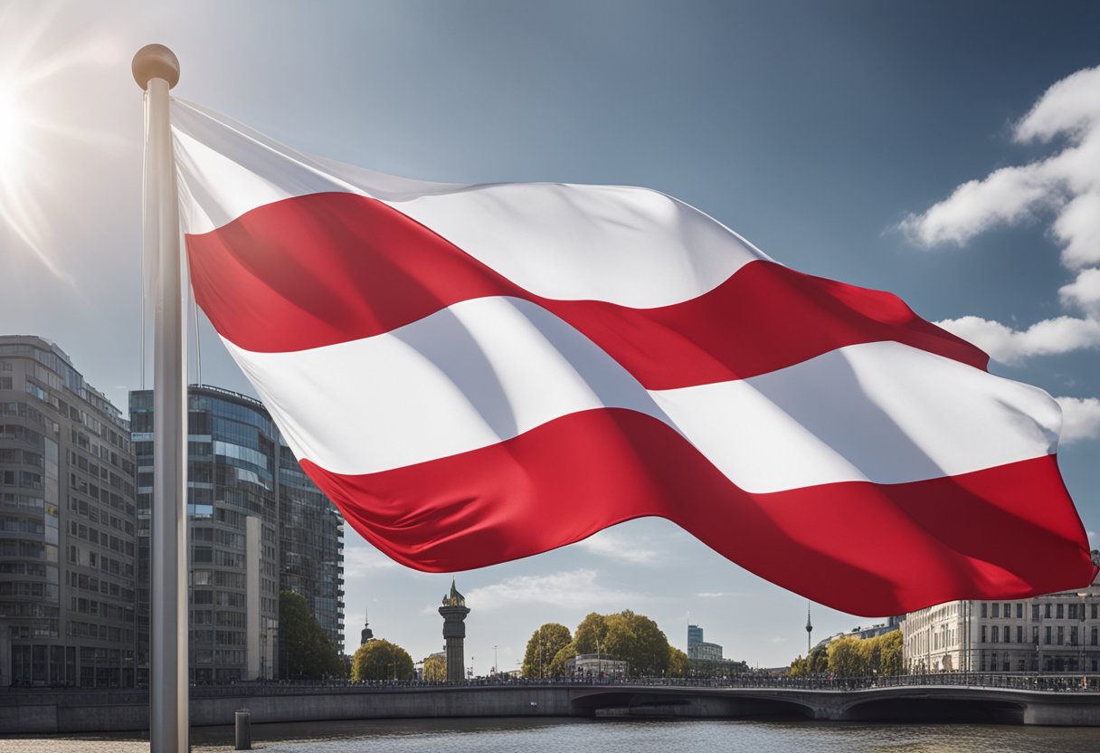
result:
[[[430,572],[658,515],[757,575],[856,614],[1031,597],[1096,574],[1054,456],[912,483],[751,494],[666,424],[607,408],[381,473],[301,465],[364,538]]]

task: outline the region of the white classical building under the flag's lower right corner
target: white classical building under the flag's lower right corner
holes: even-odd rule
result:
[[[911,673],[1100,672],[1100,577],[1032,599],[948,601],[910,612],[901,630]]]

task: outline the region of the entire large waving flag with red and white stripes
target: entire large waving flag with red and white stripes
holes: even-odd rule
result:
[[[405,565],[659,515],[860,614],[1096,572],[1056,403],[893,295],[652,190],[409,181],[172,119],[196,299],[309,476]]]

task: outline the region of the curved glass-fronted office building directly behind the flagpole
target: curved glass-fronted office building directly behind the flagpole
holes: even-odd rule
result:
[[[130,414],[138,461],[139,665],[147,672],[152,392],[131,393]],[[343,631],[342,520],[295,470],[258,401],[191,386],[187,430],[190,679],[277,678],[282,589],[302,594],[330,635]]]

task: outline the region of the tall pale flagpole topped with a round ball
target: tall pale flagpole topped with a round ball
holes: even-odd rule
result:
[[[133,74],[145,90],[142,240],[154,306],[150,743],[151,753],[187,753],[187,337],[168,124],[179,61],[164,45],[148,44],[134,55]]]

